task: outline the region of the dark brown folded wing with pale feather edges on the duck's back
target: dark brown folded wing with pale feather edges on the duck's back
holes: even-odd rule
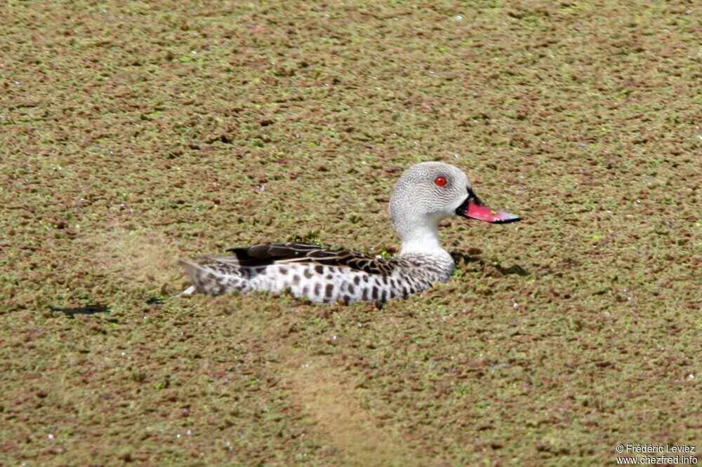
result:
[[[230,248],[241,266],[266,266],[278,262],[316,263],[346,266],[369,274],[389,276],[395,269],[392,259],[372,257],[355,250],[327,250],[312,243],[270,243],[245,248]]]

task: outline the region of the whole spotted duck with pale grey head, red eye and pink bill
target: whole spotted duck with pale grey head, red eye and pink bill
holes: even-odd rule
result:
[[[289,290],[310,302],[347,304],[404,298],[451,278],[456,264],[439,242],[439,222],[454,215],[493,224],[520,219],[484,205],[463,170],[442,162],[418,163],[402,173],[390,196],[390,217],[402,245],[396,257],[314,243],[230,248],[225,255],[201,255],[197,262],[180,259],[192,283],[183,295]]]

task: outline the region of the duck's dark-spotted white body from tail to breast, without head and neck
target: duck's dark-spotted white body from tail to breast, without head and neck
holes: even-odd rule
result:
[[[222,295],[235,290],[267,290],[274,294],[290,290],[296,297],[312,302],[334,302],[338,299],[347,303],[385,302],[428,289],[437,280],[447,280],[453,272],[453,262],[443,259],[441,264],[434,262],[428,266],[425,263],[432,258],[422,255],[386,260],[359,253],[324,250],[319,245],[305,243],[251,247],[258,250],[263,248],[288,250],[290,256],[284,259],[259,258],[259,264],[251,265],[244,265],[246,261],[241,264],[236,255],[218,257],[219,262],[214,264],[200,265],[183,260],[180,264],[190,276],[193,291]],[[305,255],[312,253],[321,256],[322,252],[326,255],[320,260]]]

